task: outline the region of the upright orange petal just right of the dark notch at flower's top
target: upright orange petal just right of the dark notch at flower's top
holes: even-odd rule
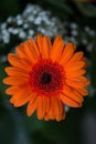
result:
[[[52,50],[51,50],[51,60],[54,62],[61,58],[63,52],[64,41],[61,35],[57,35],[54,40]]]

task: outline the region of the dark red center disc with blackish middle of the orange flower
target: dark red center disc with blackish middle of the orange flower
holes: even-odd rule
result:
[[[58,63],[50,60],[39,61],[30,72],[30,85],[39,95],[55,95],[63,89],[64,72]]]

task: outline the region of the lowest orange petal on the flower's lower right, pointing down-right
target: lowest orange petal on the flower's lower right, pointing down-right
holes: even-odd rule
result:
[[[63,93],[60,95],[60,97],[61,97],[62,102],[68,106],[72,106],[72,107],[82,106],[82,103],[74,101],[73,99],[68,97],[67,95],[64,95]]]

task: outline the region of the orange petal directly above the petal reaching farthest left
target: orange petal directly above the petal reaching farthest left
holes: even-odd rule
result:
[[[25,70],[21,70],[19,68],[14,68],[14,66],[8,66],[4,69],[4,71],[8,73],[8,75],[10,76],[24,76],[24,78],[29,78],[29,73]]]

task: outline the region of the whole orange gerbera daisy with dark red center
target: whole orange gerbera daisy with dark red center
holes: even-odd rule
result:
[[[28,103],[26,114],[36,110],[38,119],[45,121],[65,119],[64,104],[82,106],[89,81],[84,76],[86,59],[75,50],[73,43],[64,44],[61,35],[53,45],[49,37],[38,35],[17,47],[17,54],[8,55],[12,66],[6,68],[9,76],[3,80],[11,85],[6,90],[12,95],[10,102],[14,106]]]

